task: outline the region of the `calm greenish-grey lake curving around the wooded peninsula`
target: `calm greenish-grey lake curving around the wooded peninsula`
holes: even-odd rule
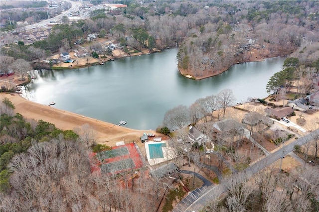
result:
[[[223,89],[231,89],[236,102],[267,97],[269,78],[282,70],[285,60],[236,64],[218,76],[195,81],[179,74],[176,54],[177,49],[167,49],[88,68],[35,71],[23,96],[114,124],[124,120],[129,128],[156,129],[168,109],[190,106]]]

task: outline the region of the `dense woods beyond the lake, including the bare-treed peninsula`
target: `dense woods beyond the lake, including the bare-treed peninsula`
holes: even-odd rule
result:
[[[50,52],[67,51],[77,40],[96,33],[115,38],[124,48],[178,47],[179,70],[195,79],[220,74],[236,63],[285,56],[300,48],[307,63],[319,57],[318,48],[314,47],[319,42],[317,1],[121,3],[128,5],[122,14],[110,15],[105,9],[98,9],[87,19],[70,23],[66,17],[62,24],[52,27],[48,39],[34,42],[33,49],[11,44],[9,50],[1,49],[1,55],[40,60]],[[7,43],[10,39],[8,35],[4,37]],[[101,46],[92,45],[95,51],[107,53]],[[46,54],[35,54],[39,49]]]

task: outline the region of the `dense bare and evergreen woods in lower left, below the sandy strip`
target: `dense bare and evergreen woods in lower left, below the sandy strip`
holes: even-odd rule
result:
[[[0,126],[0,211],[156,211],[167,190],[144,168],[136,187],[128,187],[129,172],[91,174],[88,126],[75,129],[78,135],[25,120],[8,99],[1,103]]]

